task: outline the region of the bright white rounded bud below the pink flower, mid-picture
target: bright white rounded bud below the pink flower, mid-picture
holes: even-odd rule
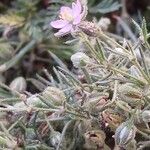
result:
[[[89,62],[90,58],[85,53],[77,52],[71,56],[71,61],[74,67],[79,68],[82,61],[84,63]]]

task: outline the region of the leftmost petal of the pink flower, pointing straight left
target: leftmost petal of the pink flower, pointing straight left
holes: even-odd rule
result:
[[[52,21],[50,23],[50,25],[53,27],[53,28],[56,28],[56,29],[61,29],[63,28],[64,26],[66,26],[68,24],[68,21],[66,20],[56,20],[56,21]]]

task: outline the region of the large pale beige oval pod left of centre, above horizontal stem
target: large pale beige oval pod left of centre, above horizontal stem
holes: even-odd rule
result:
[[[47,100],[51,100],[55,105],[62,105],[66,101],[64,92],[56,87],[48,86],[42,93],[42,96]]]

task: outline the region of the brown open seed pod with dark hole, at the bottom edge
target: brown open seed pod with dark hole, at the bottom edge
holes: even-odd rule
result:
[[[92,130],[84,134],[84,148],[87,150],[97,150],[105,145],[105,133],[102,130]]]

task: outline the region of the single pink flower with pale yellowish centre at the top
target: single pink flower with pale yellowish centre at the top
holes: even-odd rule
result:
[[[74,31],[75,27],[81,22],[82,16],[80,0],[72,3],[72,8],[62,6],[59,19],[50,23],[53,28],[59,29],[54,35],[60,37]]]

